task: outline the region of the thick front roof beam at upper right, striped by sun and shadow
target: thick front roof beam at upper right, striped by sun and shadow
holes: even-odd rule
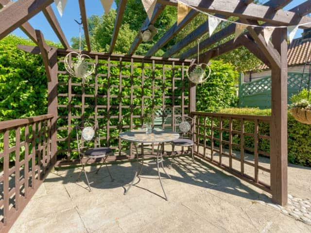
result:
[[[162,4],[177,5],[177,0],[158,0]],[[308,23],[311,17],[300,17],[292,11],[276,11],[268,5],[250,3],[245,5],[243,0],[183,0],[184,3],[208,13],[224,16],[236,16],[244,19],[262,20],[276,25],[296,25]],[[311,27],[308,25],[308,27]]]

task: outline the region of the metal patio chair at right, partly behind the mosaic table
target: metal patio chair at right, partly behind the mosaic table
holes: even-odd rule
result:
[[[172,142],[172,162],[175,157],[175,146],[187,147],[191,152],[192,162],[194,161],[194,119],[190,116],[178,116],[175,119],[175,132],[180,134],[177,140]],[[187,151],[187,152],[188,152]]]

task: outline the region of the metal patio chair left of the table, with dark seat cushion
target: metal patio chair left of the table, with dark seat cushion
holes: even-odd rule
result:
[[[81,173],[84,172],[86,176],[86,182],[91,192],[91,187],[89,185],[88,177],[85,170],[85,165],[87,162],[92,160],[101,161],[100,167],[96,170],[95,174],[98,174],[99,170],[105,164],[107,167],[109,176],[111,178],[111,182],[114,181],[109,167],[107,166],[106,159],[109,155],[113,155],[113,151],[107,147],[101,147],[100,137],[97,134],[98,131],[98,122],[92,120],[84,120],[80,124],[75,125],[76,135],[77,135],[77,143],[78,143],[78,152],[79,159],[82,165],[82,170],[79,173],[78,179],[80,179]],[[86,162],[83,163],[83,159],[86,159]]]

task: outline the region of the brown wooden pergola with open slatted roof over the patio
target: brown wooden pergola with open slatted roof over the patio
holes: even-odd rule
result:
[[[311,17],[307,16],[311,12],[311,0],[307,0],[304,3],[294,7],[289,11],[284,11],[282,8],[289,4],[292,0],[269,0],[263,5],[255,4],[253,0],[183,0],[184,3],[191,5],[192,7],[199,9],[210,14],[215,14],[217,17],[228,18],[231,16],[238,17],[239,21],[246,24],[258,24],[258,21],[263,21],[263,25],[270,26],[290,26],[297,25],[302,23],[311,22]],[[71,51],[74,51],[70,48],[69,42],[55,17],[55,14],[52,10],[51,4],[53,0],[0,0],[0,39],[4,38],[9,33],[13,32],[18,27],[26,33],[29,38],[35,42],[36,47],[31,46],[18,46],[19,49],[31,52],[33,54],[41,54],[43,58],[43,63],[46,69],[46,74],[48,78],[48,119],[51,118],[51,157],[52,161],[56,162],[56,121],[57,121],[57,76],[59,74],[57,66],[57,57],[64,56]],[[150,62],[152,64],[177,64],[181,66],[188,66],[192,62],[195,62],[191,58],[197,52],[197,47],[190,48],[186,52],[182,53],[178,58],[172,58],[174,54],[178,53],[183,48],[187,47],[191,42],[196,41],[204,33],[208,32],[208,22],[203,22],[198,26],[193,32],[189,33],[186,37],[180,40],[178,43],[173,45],[172,48],[167,50],[163,57],[155,57],[155,53],[165,46],[177,33],[179,33],[185,26],[187,26],[190,21],[196,17],[199,13],[194,9],[190,10],[188,15],[182,20],[181,23],[177,25],[175,23],[145,54],[145,56],[135,55],[142,40],[139,36],[139,32],[134,39],[132,46],[127,54],[114,54],[114,47],[117,41],[118,33],[121,26],[122,17],[126,7],[126,0],[120,0],[117,17],[115,20],[115,27],[112,34],[112,39],[110,43],[109,52],[102,53],[93,51],[90,44],[89,34],[88,34],[88,25],[87,25],[87,15],[86,15],[86,5],[85,0],[79,0],[80,13],[82,17],[83,29],[85,34],[85,40],[87,45],[87,50],[83,53],[88,54],[95,59],[108,59],[122,62]],[[141,29],[145,28],[149,24],[155,23],[157,17],[163,12],[167,5],[177,5],[176,0],[158,0],[155,6],[155,11],[152,18],[149,20],[146,17],[143,22]],[[58,36],[62,46],[64,48],[57,49],[50,47],[46,44],[43,34],[35,30],[28,20],[34,17],[39,12],[43,12],[44,16],[52,26],[53,31]],[[305,25],[302,28],[310,28],[311,24]],[[219,42],[220,40],[234,34],[235,24],[231,24],[219,32],[212,34],[207,39],[200,42],[200,50],[205,50],[209,47],[212,47],[213,44]],[[219,117],[221,119],[227,118],[230,120],[230,135],[232,139],[232,120],[237,117],[243,122],[244,119],[255,119],[255,128],[257,127],[257,134],[253,136],[256,140],[260,138],[258,135],[258,122],[260,120],[267,120],[270,122],[270,136],[271,149],[270,149],[270,175],[271,183],[269,189],[271,191],[273,200],[281,205],[287,203],[287,29],[286,28],[276,28],[272,34],[272,40],[269,44],[266,44],[262,28],[247,28],[247,33],[243,33],[240,37],[234,41],[229,40],[222,45],[218,45],[212,49],[209,49],[200,54],[200,61],[207,63],[210,59],[213,59],[221,54],[235,50],[239,47],[246,47],[252,53],[254,53],[263,63],[272,69],[272,116],[270,118],[256,118],[245,116],[235,115],[200,115],[200,113],[195,112],[195,103],[196,103],[196,87],[195,85],[190,86],[189,90],[189,113],[193,116],[213,116]],[[164,66],[164,65],[163,65]],[[182,69],[182,71],[184,71]],[[120,84],[121,85],[121,84]],[[131,97],[133,98],[133,97]],[[36,118],[35,120],[43,120],[47,118]],[[259,121],[258,121],[259,120]],[[20,121],[19,123],[25,124],[27,121]],[[34,119],[30,122],[35,122]],[[256,123],[257,122],[257,123]],[[198,122],[200,124],[200,122]],[[16,123],[12,123],[10,127],[15,127]],[[206,124],[204,125],[206,126]],[[242,123],[242,129],[240,134],[243,138],[244,135],[244,125]],[[7,122],[0,122],[0,130],[7,129]],[[222,130],[222,126],[220,126]],[[197,135],[200,135],[198,132]],[[206,136],[206,135],[205,135]],[[262,136],[263,137],[263,136]],[[7,138],[6,138],[7,139]],[[7,139],[8,140],[8,139]],[[220,139],[221,141],[222,139]],[[241,139],[242,140],[242,139]],[[5,141],[8,143],[8,141]],[[256,144],[256,143],[255,143]],[[199,142],[198,142],[199,145]],[[241,144],[242,147],[244,146]],[[18,145],[19,146],[19,145]],[[232,145],[230,144],[231,149]],[[212,149],[213,150],[213,149]],[[5,153],[9,153],[10,149],[7,147],[7,150],[4,151],[4,181],[8,179],[9,168],[8,166],[8,157],[6,159]],[[13,151],[13,150],[12,150]],[[197,151],[198,152],[198,151]],[[222,151],[220,151],[222,154]],[[199,155],[199,152],[197,153]],[[256,152],[255,152],[256,155]],[[257,154],[258,157],[258,154]],[[257,161],[258,162],[258,161]],[[221,168],[231,171],[230,167],[222,166],[221,162],[219,165]],[[241,168],[242,169],[242,168]],[[258,172],[258,165],[255,165],[255,170]],[[243,174],[233,173],[241,178],[249,179]],[[42,179],[43,180],[43,179]],[[252,180],[254,181],[254,179]],[[258,186],[258,177],[255,175],[255,182]],[[6,184],[8,185],[8,184]],[[9,195],[9,189],[4,185],[4,196]],[[256,185],[256,184],[255,184]],[[264,185],[263,185],[264,186]],[[262,186],[262,187],[263,187]],[[261,187],[261,186],[260,186]],[[4,200],[4,213],[9,211],[8,203],[6,206],[6,201]],[[27,201],[26,201],[27,203]],[[17,211],[13,219],[16,219],[20,209]],[[4,215],[4,226],[10,226],[12,219],[9,221],[8,217]],[[9,222],[8,222],[9,221]],[[4,230],[3,230],[4,229]],[[8,228],[3,228],[1,231],[7,231]]]

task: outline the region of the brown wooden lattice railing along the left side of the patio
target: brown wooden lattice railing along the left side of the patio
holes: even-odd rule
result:
[[[53,165],[52,118],[0,122],[0,232],[9,230]]]

